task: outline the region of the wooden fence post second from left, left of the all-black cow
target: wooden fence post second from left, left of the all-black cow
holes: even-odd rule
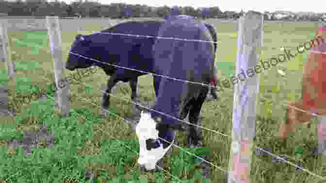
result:
[[[59,108],[63,116],[69,116],[69,82],[63,80],[64,64],[62,62],[62,39],[60,32],[59,17],[46,17],[48,37],[53,56],[55,84],[58,88],[57,97]]]

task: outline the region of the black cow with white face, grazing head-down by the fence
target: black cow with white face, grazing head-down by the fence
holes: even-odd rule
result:
[[[158,36],[212,41],[205,24],[192,17],[167,19]],[[154,169],[156,162],[171,147],[170,143],[175,139],[174,130],[179,130],[179,120],[189,114],[190,123],[197,124],[209,91],[207,86],[170,78],[209,84],[214,78],[214,46],[208,42],[156,39],[153,59],[154,73],[169,78],[154,76],[155,106],[142,112],[136,127],[141,149],[138,163],[147,170]],[[187,144],[196,146],[200,140],[196,126],[190,126]]]

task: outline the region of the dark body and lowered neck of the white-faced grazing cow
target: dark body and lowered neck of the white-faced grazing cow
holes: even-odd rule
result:
[[[176,18],[162,24],[158,36],[187,40],[157,39],[153,46],[155,73],[181,80],[209,83],[213,72],[212,36],[203,23],[190,18]],[[157,80],[159,93],[154,109],[178,117],[180,102],[196,98],[202,85],[171,80],[165,77]],[[157,82],[155,81],[155,82]],[[152,113],[152,116],[158,116]],[[178,121],[163,117],[169,124]],[[165,122],[164,122],[165,123]]]

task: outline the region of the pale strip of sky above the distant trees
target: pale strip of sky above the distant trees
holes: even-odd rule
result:
[[[70,3],[75,0],[63,0]],[[148,6],[193,6],[210,7],[218,6],[221,11],[237,11],[243,9],[245,12],[254,10],[263,13],[264,11],[292,11],[292,12],[314,12],[326,13],[326,0],[93,0],[102,4],[127,3],[146,4]],[[157,1],[157,2],[154,2]]]

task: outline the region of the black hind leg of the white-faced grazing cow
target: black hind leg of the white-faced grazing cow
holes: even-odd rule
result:
[[[201,120],[199,119],[200,118],[199,114],[200,114],[201,107],[206,99],[207,93],[208,93],[208,88],[205,87],[200,92],[198,98],[196,100],[191,101],[192,108],[189,111],[189,122],[191,124],[198,125],[198,121]],[[187,147],[194,148],[194,147],[200,147],[201,145],[202,145],[201,129],[194,125],[189,125],[189,131],[187,134]]]

